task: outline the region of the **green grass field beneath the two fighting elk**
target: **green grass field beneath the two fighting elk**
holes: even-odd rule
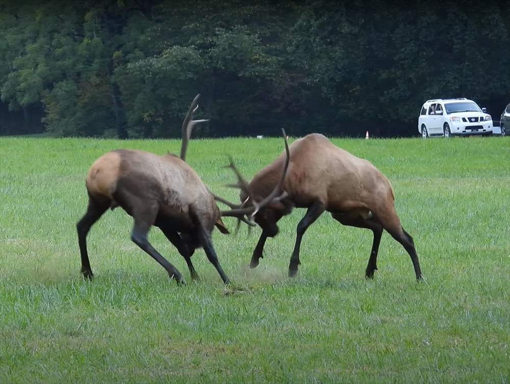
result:
[[[290,141],[292,142],[293,139]],[[509,382],[510,140],[334,140],[392,182],[425,281],[385,232],[374,280],[368,230],[327,213],[287,278],[296,209],[247,264],[260,229],[213,242],[233,284],[202,250],[192,283],[154,228],[149,239],[186,277],[178,287],[108,211],[88,236],[93,282],[79,274],[75,224],[85,175],[117,148],[179,153],[180,141],[0,139],[0,382]],[[215,193],[232,154],[247,178],[282,139],[193,140],[188,161]],[[235,220],[225,223],[234,230]]]

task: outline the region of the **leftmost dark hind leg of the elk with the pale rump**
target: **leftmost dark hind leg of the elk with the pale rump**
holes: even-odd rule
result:
[[[87,252],[87,234],[94,223],[99,220],[103,213],[106,212],[109,205],[110,201],[100,201],[99,199],[93,198],[89,195],[87,212],[76,225],[76,230],[78,232],[78,244],[80,246],[80,256],[82,259],[81,272],[84,279],[92,280],[92,277],[94,276],[92,269],[90,268],[89,255]]]

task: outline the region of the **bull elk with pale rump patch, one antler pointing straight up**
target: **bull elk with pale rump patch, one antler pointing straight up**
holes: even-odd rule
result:
[[[179,270],[154,249],[147,239],[151,226],[161,229],[184,257],[192,279],[198,275],[191,263],[196,248],[203,247],[221,279],[228,278],[221,268],[211,242],[216,226],[228,233],[221,221],[214,197],[196,172],[184,161],[193,126],[207,120],[191,120],[198,108],[197,95],[183,122],[181,158],[159,156],[144,151],[120,149],[99,157],[86,178],[89,197],[87,212],[77,224],[82,273],[92,279],[86,237],[90,227],[110,207],[122,207],[134,218],[131,239],[168,272],[177,283],[184,282]]]

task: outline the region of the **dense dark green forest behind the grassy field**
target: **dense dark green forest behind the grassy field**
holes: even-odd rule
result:
[[[509,2],[0,2],[0,134],[417,134],[422,103],[510,102]]]

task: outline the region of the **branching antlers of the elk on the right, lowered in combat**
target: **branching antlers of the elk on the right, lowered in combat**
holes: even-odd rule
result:
[[[230,211],[221,211],[222,216],[233,216],[233,217],[237,217],[239,220],[243,220],[244,215],[250,215],[250,221],[251,221],[251,218],[254,215],[256,215],[257,212],[260,211],[262,208],[264,208],[266,205],[268,205],[271,202],[280,201],[282,199],[285,199],[288,196],[286,191],[283,191],[283,193],[281,192],[283,189],[285,177],[287,176],[287,170],[289,168],[289,161],[290,161],[289,144],[287,143],[287,135],[285,134],[285,129],[283,129],[283,128],[282,128],[282,134],[284,136],[285,152],[287,155],[285,158],[285,166],[284,166],[284,170],[282,172],[282,177],[280,178],[278,184],[274,187],[272,192],[269,194],[269,196],[267,196],[265,199],[261,200],[260,202],[257,202],[254,199],[254,195],[251,193],[249,184],[244,180],[241,173],[236,168],[236,166],[234,165],[234,162],[231,159],[231,163],[227,167],[231,168],[234,171],[234,173],[236,174],[236,176],[238,178],[238,183],[232,184],[230,186],[238,187],[238,188],[241,188],[242,190],[244,190],[245,193],[248,195],[248,199],[251,198],[252,205],[245,207],[245,208],[242,207],[248,201],[248,199],[246,199],[243,202],[243,204],[239,205],[239,204],[233,204],[233,203],[227,202],[226,200],[219,198],[219,199],[217,199],[219,202],[221,202],[225,205],[228,205],[229,207],[232,208]],[[278,194],[280,194],[280,195],[277,196]]]

